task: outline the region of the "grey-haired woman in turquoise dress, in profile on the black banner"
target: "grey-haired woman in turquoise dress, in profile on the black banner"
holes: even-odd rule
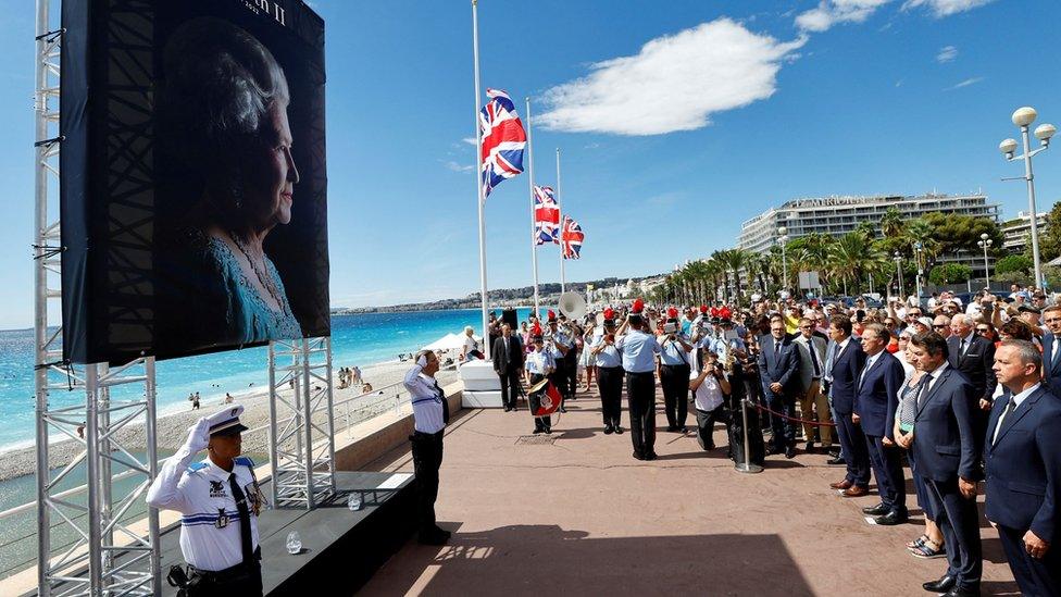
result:
[[[209,350],[302,337],[265,244],[291,223],[299,184],[284,70],[248,32],[213,17],[177,27],[162,63],[163,142],[188,181],[170,183],[179,209],[160,223],[161,261],[179,281],[166,289],[171,340]]]

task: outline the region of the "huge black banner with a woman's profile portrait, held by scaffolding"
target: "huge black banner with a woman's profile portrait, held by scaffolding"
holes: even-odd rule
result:
[[[63,356],[325,336],[324,22],[301,0],[63,0]]]

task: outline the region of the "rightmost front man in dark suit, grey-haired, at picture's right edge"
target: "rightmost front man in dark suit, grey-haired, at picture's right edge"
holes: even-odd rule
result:
[[[1061,313],[1054,312],[1058,315]],[[1024,595],[1061,595],[1061,398],[1039,381],[1032,343],[1007,340],[995,353],[1004,391],[987,423],[987,520]]]

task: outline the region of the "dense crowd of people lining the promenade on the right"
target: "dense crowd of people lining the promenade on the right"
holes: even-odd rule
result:
[[[1021,590],[1061,594],[1050,547],[1061,522],[1061,302],[1020,288],[968,304],[941,293],[878,308],[751,298],[744,308],[635,301],[581,321],[549,311],[519,331],[497,322],[487,350],[504,410],[516,410],[521,381],[548,378],[564,412],[582,377],[584,390],[597,387],[603,433],[623,433],[625,385],[633,458],[653,460],[658,381],[666,431],[687,433],[691,405],[704,450],[716,449],[720,423],[738,462],[828,453],[844,467],[831,484],[841,497],[869,495],[875,481],[879,502],[863,513],[877,525],[907,523],[915,500],[925,526],[904,548],[948,560],[924,586],[948,595],[979,590],[983,487]],[[527,397],[532,412],[544,393]],[[550,416],[535,418],[533,433],[551,431]]]

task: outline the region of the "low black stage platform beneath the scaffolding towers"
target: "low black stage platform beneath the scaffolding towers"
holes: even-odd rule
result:
[[[338,496],[329,503],[310,511],[267,510],[259,519],[266,595],[294,595],[322,583],[351,595],[412,536],[413,475],[338,472],[335,480]],[[361,510],[347,507],[351,492],[361,493]],[[302,539],[302,552],[296,556],[285,545],[291,531]],[[178,540],[179,525],[162,534],[163,576],[183,561]],[[162,595],[177,594],[165,581],[162,585]]]

